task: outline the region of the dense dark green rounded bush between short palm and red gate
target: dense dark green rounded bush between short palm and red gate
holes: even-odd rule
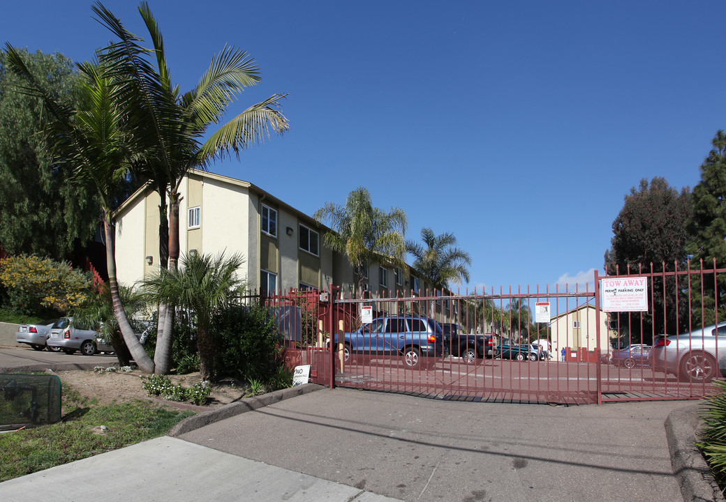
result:
[[[274,376],[280,334],[269,309],[253,305],[221,310],[213,318],[212,331],[217,337],[218,377],[267,382]]]

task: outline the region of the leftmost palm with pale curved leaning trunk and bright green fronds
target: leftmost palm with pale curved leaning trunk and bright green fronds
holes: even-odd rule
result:
[[[57,168],[67,170],[73,184],[94,190],[102,210],[106,239],[106,265],[113,310],[129,347],[142,371],[154,371],[154,363],[134,334],[123,310],[116,279],[116,262],[111,222],[112,200],[129,173],[133,160],[133,136],[126,133],[126,115],[117,106],[122,89],[102,65],[83,63],[78,105],[60,102],[28,70],[17,49],[6,44],[8,67],[28,83],[25,92],[42,99],[49,111],[46,134]]]

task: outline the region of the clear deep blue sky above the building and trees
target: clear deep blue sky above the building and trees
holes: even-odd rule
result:
[[[146,36],[135,1],[105,1]],[[153,0],[186,91],[225,44],[287,93],[290,131],[214,165],[312,215],[357,186],[407,237],[453,232],[469,291],[602,270],[641,178],[696,185],[726,128],[724,1]],[[0,41],[82,61],[110,40],[91,2],[1,9]],[[592,279],[591,279],[592,280]],[[552,290],[552,289],[550,289]]]

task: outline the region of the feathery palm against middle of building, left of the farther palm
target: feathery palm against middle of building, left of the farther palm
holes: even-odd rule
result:
[[[406,267],[406,213],[399,207],[388,212],[373,207],[370,192],[362,186],[348,194],[346,205],[326,202],[314,218],[330,223],[334,231],[325,234],[325,245],[348,257],[358,279],[359,295],[365,289],[369,263]]]

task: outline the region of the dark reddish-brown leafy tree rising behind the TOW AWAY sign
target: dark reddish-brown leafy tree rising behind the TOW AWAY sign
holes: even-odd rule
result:
[[[613,221],[611,248],[605,252],[605,270],[609,274],[638,273],[639,267],[650,272],[674,271],[682,268],[688,260],[686,244],[688,232],[685,223],[691,215],[690,192],[687,188],[680,192],[668,184],[665,178],[657,177],[650,181],[640,181],[639,189],[632,187],[625,196],[625,203]],[[665,284],[664,284],[665,281]],[[657,289],[658,292],[653,292]],[[683,295],[677,297],[676,282],[672,276],[654,281],[648,289],[656,312],[643,316],[643,332],[640,322],[632,321],[632,335],[636,340],[648,340],[650,334],[676,333],[682,324],[687,305]],[[665,298],[665,301],[664,301]],[[665,313],[665,316],[664,316]],[[680,314],[680,315],[679,315]],[[622,324],[622,323],[621,323]],[[622,327],[622,326],[621,326]]]

